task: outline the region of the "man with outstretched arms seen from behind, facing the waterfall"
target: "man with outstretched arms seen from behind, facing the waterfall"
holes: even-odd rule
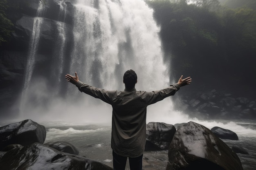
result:
[[[124,170],[127,157],[130,170],[142,170],[146,144],[146,107],[174,95],[181,86],[191,83],[191,77],[182,77],[168,88],[146,92],[136,91],[137,75],[133,70],[124,73],[124,91],[106,91],[89,86],[79,81],[77,73],[75,76],[65,75],[67,81],[75,84],[79,91],[112,105],[111,147],[114,170]]]

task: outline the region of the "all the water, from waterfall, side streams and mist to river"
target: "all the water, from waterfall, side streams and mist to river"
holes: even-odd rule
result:
[[[56,0],[58,1],[58,0]],[[69,141],[80,154],[112,166],[111,106],[99,99],[80,93],[68,84],[64,70],[74,75],[76,71],[82,82],[106,90],[123,90],[122,77],[126,70],[137,72],[137,90],[158,90],[176,80],[169,80],[163,62],[159,26],[153,19],[153,10],[143,0],[77,0],[74,4],[74,46],[66,58],[66,27],[63,1],[57,22],[54,62],[49,63],[55,81],[48,77],[33,77],[35,54],[38,48],[41,15],[38,8],[31,35],[30,49],[25,71],[20,117],[17,121],[32,119],[47,128],[46,141]],[[66,66],[66,68],[65,68]],[[31,81],[36,79],[37,81]],[[66,84],[64,94],[59,86]],[[28,100],[28,96],[32,99]],[[174,96],[175,97],[175,96]],[[43,101],[44,100],[44,101]],[[43,101],[43,102],[42,102]],[[47,104],[45,104],[47,103]],[[168,124],[195,121],[212,128],[219,126],[238,134],[239,141],[225,141],[228,145],[239,144],[249,155],[238,154],[245,170],[256,167],[256,124],[253,121],[199,121],[189,119],[182,111],[173,110],[171,97],[148,106],[147,122]],[[16,121],[12,121],[14,123]],[[1,124],[4,125],[3,123]],[[144,153],[144,169],[165,169],[167,150]]]

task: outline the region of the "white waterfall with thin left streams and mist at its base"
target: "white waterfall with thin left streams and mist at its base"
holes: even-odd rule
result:
[[[67,5],[59,1],[56,41],[52,56],[43,56],[42,31],[48,20],[47,10],[39,4],[29,43],[23,89],[17,104],[19,113],[13,120],[68,121],[76,123],[110,124],[112,107],[99,99],[81,93],[65,80],[65,74],[105,90],[124,90],[123,74],[128,69],[137,73],[138,91],[166,88],[177,80],[169,80],[164,64],[159,26],[142,0],[100,2],[77,1],[74,4],[74,27],[69,32],[65,24]],[[73,34],[72,46],[67,35]],[[44,57],[51,57],[46,59]],[[175,96],[173,96],[175,97]],[[147,122],[180,123],[188,116],[173,110],[172,97],[148,106]]]

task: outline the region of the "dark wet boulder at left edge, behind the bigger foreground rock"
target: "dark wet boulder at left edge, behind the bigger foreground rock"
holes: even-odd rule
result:
[[[43,144],[46,137],[45,126],[30,119],[0,127],[0,150],[10,144],[27,146],[38,142]]]

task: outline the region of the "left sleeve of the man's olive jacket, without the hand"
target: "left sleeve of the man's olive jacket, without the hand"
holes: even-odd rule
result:
[[[101,88],[96,88],[93,86],[89,86],[83,82],[77,82],[76,87],[78,87],[79,91],[84,92],[92,97],[101,99],[103,102],[108,104],[112,103],[112,100],[115,98],[116,91],[106,91]]]

